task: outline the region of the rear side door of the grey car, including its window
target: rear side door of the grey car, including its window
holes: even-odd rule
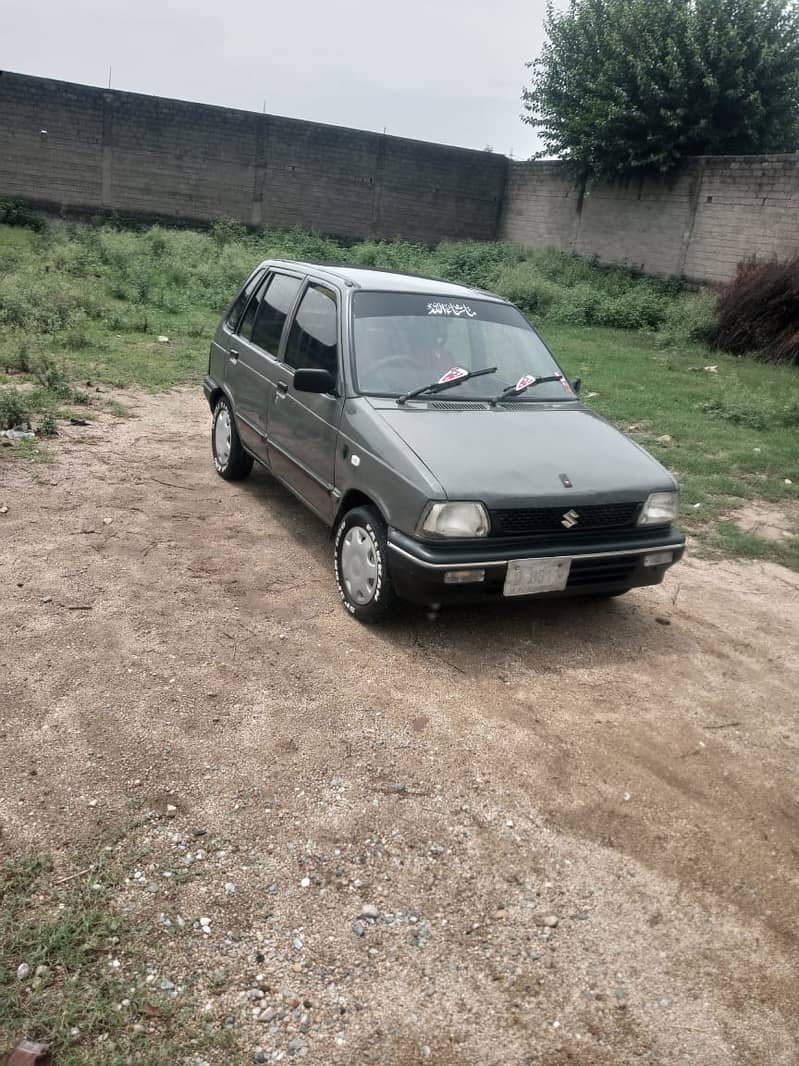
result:
[[[298,276],[271,272],[247,305],[229,352],[237,429],[244,446],[265,463],[280,341],[301,284]]]

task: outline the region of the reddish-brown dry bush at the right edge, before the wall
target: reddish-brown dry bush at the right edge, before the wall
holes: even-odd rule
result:
[[[746,259],[718,298],[716,348],[754,353],[768,362],[799,364],[799,256]]]

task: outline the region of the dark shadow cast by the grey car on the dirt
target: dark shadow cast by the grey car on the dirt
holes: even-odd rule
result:
[[[272,475],[256,466],[242,488],[268,508],[287,536],[307,552],[307,572],[329,588],[338,608],[330,533]],[[616,599],[589,596],[445,607],[431,612],[401,603],[369,632],[405,650],[423,650],[457,673],[495,671],[504,678],[515,666],[541,674],[673,657],[696,650],[679,624],[663,625],[680,584],[667,575],[661,586],[633,589]],[[340,611],[341,625],[359,626]],[[656,619],[661,618],[658,623]]]

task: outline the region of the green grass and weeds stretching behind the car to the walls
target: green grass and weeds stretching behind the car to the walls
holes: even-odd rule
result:
[[[684,524],[706,550],[752,555],[752,538],[724,532],[724,516],[746,500],[797,500],[799,373],[708,351],[701,341],[713,297],[674,280],[503,243],[345,245],[227,222],[208,232],[54,222],[37,230],[21,217],[0,224],[0,427],[19,403],[36,429],[76,405],[82,417],[100,406],[125,416],[97,385],[198,383],[218,314],[256,262],[348,261],[476,285],[519,304],[583,377],[587,402],[673,470]],[[690,369],[708,365],[718,373]],[[665,434],[668,447],[657,441]],[[31,442],[2,453],[47,457]],[[797,565],[790,542],[756,550]]]

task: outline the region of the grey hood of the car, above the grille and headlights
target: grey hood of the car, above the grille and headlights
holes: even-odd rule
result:
[[[567,498],[643,500],[674,488],[656,459],[582,404],[374,406],[453,500],[558,506]]]

